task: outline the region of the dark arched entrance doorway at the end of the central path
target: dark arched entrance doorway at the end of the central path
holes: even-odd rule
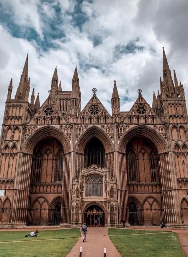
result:
[[[104,226],[104,211],[97,205],[90,206],[84,213],[84,222],[87,226],[96,226],[99,219],[100,226]]]

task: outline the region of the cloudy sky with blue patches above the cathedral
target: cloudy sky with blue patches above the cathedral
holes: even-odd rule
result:
[[[75,65],[82,108],[96,87],[111,113],[114,77],[121,111],[130,110],[138,88],[152,105],[162,77],[162,44],[188,99],[187,13],[187,0],[0,0],[0,123],[10,79],[14,98],[27,50],[30,95],[35,87],[41,105],[55,66],[62,90],[69,91]]]

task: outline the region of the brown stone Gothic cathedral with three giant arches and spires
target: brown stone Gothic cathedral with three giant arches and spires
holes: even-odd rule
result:
[[[75,68],[63,91],[55,67],[40,105],[28,54],[17,92],[11,79],[0,140],[0,228],[26,225],[188,227],[188,117],[184,87],[163,48],[163,80],[152,107],[142,90],[120,111],[114,81],[112,113],[97,89],[81,110]]]

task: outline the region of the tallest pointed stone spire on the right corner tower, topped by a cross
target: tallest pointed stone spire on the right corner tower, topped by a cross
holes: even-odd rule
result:
[[[171,91],[175,92],[174,83],[172,80],[171,71],[166,58],[164,47],[163,47],[163,83],[166,88],[166,92],[168,91],[167,93],[170,93]]]

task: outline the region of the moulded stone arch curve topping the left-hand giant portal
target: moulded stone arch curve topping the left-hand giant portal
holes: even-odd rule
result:
[[[38,129],[33,133],[26,141],[25,146],[24,146],[24,152],[25,153],[33,153],[33,149],[35,148],[35,145],[37,142],[41,141],[42,139],[45,138],[50,138],[49,137],[54,137],[57,140],[59,140],[64,148],[64,153],[70,152],[71,146],[70,143],[68,142],[68,139],[66,136],[61,132],[61,130],[52,127],[52,126],[46,126],[43,128]]]

